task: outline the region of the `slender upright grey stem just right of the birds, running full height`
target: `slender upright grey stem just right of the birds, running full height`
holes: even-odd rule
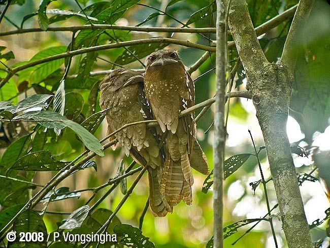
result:
[[[216,93],[213,138],[213,247],[223,247],[223,163],[226,132],[224,105],[227,71],[227,6],[229,0],[217,0],[216,19]]]

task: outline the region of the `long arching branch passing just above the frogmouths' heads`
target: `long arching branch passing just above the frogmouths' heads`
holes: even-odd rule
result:
[[[192,47],[196,49],[201,49],[205,51],[215,52],[215,47],[205,46],[189,41],[182,41],[177,39],[171,39],[171,38],[150,38],[150,39],[141,39],[141,40],[134,40],[134,41],[123,41],[123,42],[116,42],[112,44],[107,45],[100,45],[100,46],[93,46],[93,47],[87,47],[83,49],[78,49],[74,51],[68,51],[64,53],[60,53],[57,55],[53,55],[50,57],[38,59],[35,61],[31,61],[27,64],[24,64],[19,67],[15,67],[11,71],[8,72],[7,76],[0,82],[0,88],[2,88],[6,82],[17,72],[22,71],[24,69],[34,67],[43,63],[47,63],[49,61],[53,61],[56,59],[66,58],[66,57],[73,57],[75,55],[87,53],[87,52],[95,52],[95,51],[101,51],[106,49],[113,49],[113,48],[119,48],[119,47],[126,47],[126,46],[134,46],[134,45],[141,45],[141,44],[152,44],[152,43],[165,43],[165,44],[176,44],[186,47]]]

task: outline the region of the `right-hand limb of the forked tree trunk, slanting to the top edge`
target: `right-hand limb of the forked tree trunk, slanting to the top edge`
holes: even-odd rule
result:
[[[301,38],[299,33],[304,29],[304,25],[307,23],[314,2],[315,0],[299,1],[298,8],[294,14],[288,36],[284,44],[281,64],[288,68],[291,75],[293,75],[297,58],[296,42]]]

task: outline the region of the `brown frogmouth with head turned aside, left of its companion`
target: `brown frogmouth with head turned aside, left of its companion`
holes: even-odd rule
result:
[[[108,133],[127,123],[152,119],[143,92],[143,76],[133,70],[117,69],[99,85],[100,106],[107,109]],[[158,145],[156,132],[147,129],[146,123],[130,126],[116,134],[118,143],[139,164],[147,166],[149,179],[149,203],[158,216],[165,216],[172,209],[166,206],[160,194],[159,182],[164,154]]]

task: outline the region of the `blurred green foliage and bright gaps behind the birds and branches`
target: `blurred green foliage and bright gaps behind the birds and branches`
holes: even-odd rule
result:
[[[43,1],[46,2],[46,1]],[[120,1],[100,2],[100,1],[78,1],[82,8],[93,5],[94,9],[87,9],[86,14],[91,17],[96,17],[100,20],[100,15],[97,16],[101,10],[112,4],[118,4]],[[129,1],[128,1],[129,2]],[[125,12],[123,16],[118,19],[105,19],[107,24],[129,25],[134,26],[143,22],[153,13],[158,13],[157,9],[165,10],[171,15],[153,15],[154,18],[147,21],[144,26],[173,26],[181,27],[182,24],[174,20],[178,19],[182,23],[187,23],[191,19],[191,15],[198,13],[197,21],[193,21],[190,27],[213,27],[215,25],[214,8],[215,3],[212,1],[133,1],[139,2],[150,7],[132,4],[132,7]],[[249,11],[254,26],[258,26],[265,21],[271,19],[277,14],[283,12],[285,9],[296,4],[298,1],[247,1]],[[22,5],[11,5],[6,13],[6,17],[20,26],[23,17],[38,11],[40,8],[39,1],[17,1]],[[47,9],[61,9],[79,12],[79,6],[75,1],[53,1]],[[202,11],[200,11],[202,10]],[[204,12],[205,11],[205,12]],[[330,86],[328,81],[330,73],[329,64],[329,50],[330,43],[328,37],[330,35],[330,18],[329,6],[325,1],[316,1],[315,7],[310,17],[308,26],[301,30],[301,44],[296,49],[301,51],[298,67],[296,69],[294,90],[292,92],[290,115],[295,118],[289,119],[291,126],[288,128],[288,135],[291,138],[290,142],[304,146],[308,153],[308,158],[302,158],[296,155],[295,164],[299,172],[309,172],[317,160],[317,154],[322,154],[325,158],[328,157],[330,147],[328,140],[330,138],[330,129],[327,128],[328,118],[330,116]],[[60,20],[61,15],[47,15],[49,20],[56,20],[50,23],[50,26],[74,26],[86,24],[86,19],[81,17],[71,17]],[[152,16],[151,16],[152,17]],[[23,27],[39,27],[40,16],[38,15],[27,19]],[[59,19],[55,19],[59,18]],[[1,33],[7,30],[12,30],[15,27],[4,19],[1,23]],[[114,21],[114,23],[112,23]],[[288,32],[290,22],[284,22],[277,28],[270,30],[266,35],[260,37],[259,41],[266,52],[269,60],[277,61],[280,56],[286,34]],[[101,34],[95,39],[86,37],[79,40],[76,38],[74,47],[79,49],[82,47],[89,47],[94,45],[102,45],[113,43],[116,41],[129,41],[136,39],[145,39],[150,37],[167,36],[164,33],[135,33],[120,30],[107,30],[108,34]],[[83,32],[81,32],[83,33]],[[82,35],[78,35],[82,37]],[[197,34],[174,34],[174,38],[180,40],[189,40],[205,45],[209,45],[210,41],[204,39]],[[70,32],[39,32],[18,34],[12,36],[4,36],[0,38],[0,45],[5,46],[6,50],[2,54],[13,51],[15,58],[2,58],[4,64],[9,67],[16,67],[23,64],[22,61],[33,60],[37,58],[47,57],[50,55],[65,52],[71,43],[72,35]],[[214,39],[214,35],[210,35],[209,39]],[[229,38],[230,39],[230,38]],[[81,41],[81,42],[79,42]],[[160,48],[159,44],[152,44],[148,46],[129,47],[128,49],[135,49],[139,58],[144,61],[144,56],[151,53],[153,50]],[[177,45],[169,45],[167,48],[178,49],[180,51],[184,64],[189,67],[197,58],[204,53],[201,50],[194,48],[185,48]],[[72,65],[69,71],[69,77],[65,82],[65,116],[69,119],[81,123],[81,121],[90,115],[92,109],[91,101],[89,100],[91,92],[93,92],[93,85],[101,76],[88,76],[90,71],[102,71],[115,68],[113,63],[122,64],[125,67],[133,69],[141,69],[141,64],[133,58],[132,63],[126,63],[127,55],[124,48],[116,48],[111,50],[97,51],[89,54],[82,54],[73,58]],[[122,55],[122,57],[121,57]],[[126,57],[125,57],[126,56]],[[130,58],[132,56],[129,56]],[[125,60],[122,60],[124,58]],[[230,65],[234,66],[237,58],[236,50],[229,51]],[[109,63],[109,61],[111,63]],[[59,59],[47,64],[32,67],[23,70],[15,75],[10,81],[0,89],[0,101],[13,101],[13,104],[21,101],[27,96],[37,94],[50,94],[55,92],[60,79],[64,73],[64,65],[68,63],[68,59]],[[128,65],[126,65],[128,64]],[[196,72],[192,74],[192,78],[197,78],[208,72],[215,66],[214,54],[211,59],[208,59]],[[6,68],[0,65],[0,77],[6,76]],[[238,74],[235,78],[236,89],[244,89],[245,78],[242,72],[242,67],[239,68]],[[78,75],[74,77],[73,75]],[[214,95],[215,74],[213,71],[207,73],[203,77],[195,81],[196,87],[196,103],[207,100]],[[38,85],[38,86],[37,86]],[[98,100],[96,101],[95,112],[100,111]],[[259,130],[257,119],[253,105],[250,100],[246,99],[232,99],[230,100],[229,118],[227,125],[228,140],[226,147],[226,157],[229,158],[234,154],[253,152],[251,140],[248,134],[248,129],[251,130],[254,141],[257,146],[262,146],[262,136]],[[197,128],[197,137],[200,140],[201,146],[205,151],[210,169],[212,169],[212,125],[213,115],[209,110],[199,121]],[[26,131],[31,131],[32,125],[25,127]],[[326,129],[327,128],[327,129]],[[301,132],[299,132],[301,129]],[[207,131],[208,130],[208,131]],[[2,126],[2,132],[4,127]],[[1,139],[2,153],[6,150],[8,145],[17,138],[26,135],[27,132],[22,131],[12,137],[4,135]],[[206,132],[207,131],[207,132]],[[206,132],[206,133],[205,133]],[[99,139],[106,136],[105,121],[97,129],[95,136]],[[32,143],[33,144],[33,143]],[[314,146],[320,146],[318,152]],[[33,149],[33,148],[32,148]],[[63,134],[56,138],[54,132],[49,130],[47,132],[47,143],[44,150],[49,150],[56,160],[72,161],[82,151],[84,146],[76,139],[75,133],[69,129],[65,129]],[[98,187],[99,185],[108,181],[116,175],[119,161],[124,158],[126,167],[131,162],[130,158],[126,158],[120,149],[112,151],[108,149],[105,151],[105,157],[96,157],[94,159],[97,165],[97,171],[93,168],[88,168],[79,171],[69,178],[63,180],[59,187],[69,187],[70,191],[82,190],[88,188]],[[260,159],[262,168],[266,178],[270,178],[270,171],[268,168],[266,152],[260,152]],[[319,163],[319,173],[313,174],[323,178],[323,185],[328,185],[329,174],[326,169],[327,163]],[[327,168],[327,167],[325,167]],[[323,174],[322,174],[323,172]],[[34,177],[34,182],[45,184],[54,175],[53,172],[37,172],[35,175],[30,173],[20,172],[14,175],[15,177],[22,177],[31,179]],[[135,179],[136,175],[128,177],[128,187]],[[261,187],[257,188],[255,193],[251,190],[250,182],[257,181],[260,178],[260,173],[257,169],[257,163],[254,158],[250,158],[242,168],[240,168],[234,175],[228,177],[225,181],[225,211],[224,211],[224,226],[232,224],[233,222],[243,219],[261,218],[267,213],[265,196]],[[194,173],[195,183],[193,185],[193,203],[191,206],[186,206],[182,202],[174,208],[173,214],[168,214],[166,218],[154,218],[150,211],[145,215],[143,223],[143,234],[150,237],[150,240],[156,247],[205,247],[205,244],[212,237],[212,192],[207,194],[202,193],[201,189],[205,176]],[[24,185],[18,187],[13,182],[8,182],[5,179],[0,179],[2,185],[1,206],[2,210],[10,206],[22,204],[27,201],[30,194],[35,191],[29,191],[24,188]],[[16,185],[16,186],[15,186]],[[26,186],[26,185],[25,185]],[[23,190],[23,188],[25,190]],[[326,187],[325,187],[326,188]],[[324,187],[321,187],[320,182],[304,182],[302,186],[302,194],[304,202],[306,203],[306,213],[309,223],[317,219],[325,217],[324,210],[329,207],[328,200],[324,194]],[[272,182],[268,183],[269,197],[271,199],[271,206],[276,204],[276,196],[274,193]],[[99,192],[93,199],[100,198],[102,193]],[[64,220],[68,215],[80,206],[84,205],[93,193],[91,191],[81,192],[79,198],[65,199],[62,201],[51,202],[47,208],[50,213],[44,215],[44,222],[48,232],[57,229],[58,223]],[[100,207],[114,210],[122,198],[122,193],[116,190],[110,197],[108,197]],[[146,175],[143,176],[134,193],[128,198],[126,203],[118,212],[117,216],[122,223],[130,224],[135,227],[139,225],[139,218],[145,206],[148,197],[148,183]],[[38,209],[38,208],[37,208]],[[62,214],[58,214],[58,213]],[[278,209],[274,211],[274,214]],[[281,245],[285,246],[285,240],[281,230],[280,221],[274,217],[276,234]],[[326,237],[325,223],[323,226],[312,230],[313,240]],[[225,239],[225,246],[232,244],[242,235],[245,230],[239,231]],[[273,241],[270,233],[268,223],[261,223],[254,228],[248,235],[244,236],[238,241],[236,247],[272,247]]]

